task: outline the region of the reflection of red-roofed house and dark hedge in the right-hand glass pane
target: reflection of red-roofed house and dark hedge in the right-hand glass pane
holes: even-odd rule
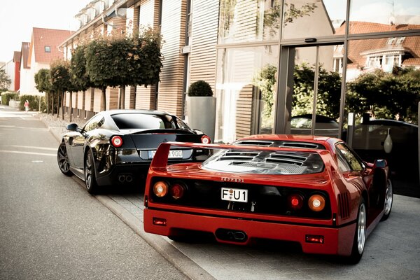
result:
[[[419,36],[349,41],[346,109],[356,124],[377,118],[416,123],[420,101]]]

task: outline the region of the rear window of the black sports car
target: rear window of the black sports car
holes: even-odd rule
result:
[[[177,128],[169,115],[149,115],[142,113],[122,113],[111,116],[120,130],[158,130]]]

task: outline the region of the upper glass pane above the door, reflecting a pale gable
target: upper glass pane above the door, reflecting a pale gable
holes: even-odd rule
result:
[[[335,35],[346,18],[345,0],[286,0],[283,38]]]

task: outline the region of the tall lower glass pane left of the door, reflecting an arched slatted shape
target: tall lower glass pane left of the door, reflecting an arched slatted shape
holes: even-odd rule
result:
[[[279,48],[228,48],[218,52],[215,142],[272,132]]]

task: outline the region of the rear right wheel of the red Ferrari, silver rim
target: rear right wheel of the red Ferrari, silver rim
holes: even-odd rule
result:
[[[363,251],[365,251],[366,242],[366,228],[367,228],[367,211],[365,200],[361,200],[358,207],[357,221],[356,221],[356,232],[354,233],[353,248],[351,249],[351,255],[349,257],[350,263],[358,263],[362,258]]]

